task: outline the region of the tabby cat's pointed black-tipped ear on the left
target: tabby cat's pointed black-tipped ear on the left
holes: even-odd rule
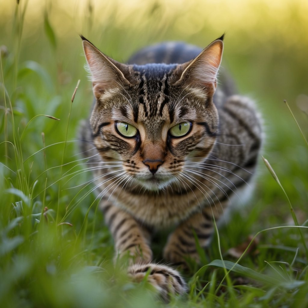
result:
[[[86,38],[82,35],[80,37],[91,73],[93,93],[96,99],[99,99],[108,89],[129,84],[129,81],[124,76],[129,71],[127,65],[104,55]]]

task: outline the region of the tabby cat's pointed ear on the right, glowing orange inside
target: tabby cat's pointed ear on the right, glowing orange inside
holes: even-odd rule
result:
[[[223,51],[222,40],[223,36],[209,44],[197,58],[182,64],[183,72],[178,82],[205,87],[214,94]]]

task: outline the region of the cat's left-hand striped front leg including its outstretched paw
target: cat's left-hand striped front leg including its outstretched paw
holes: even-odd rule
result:
[[[140,282],[146,277],[166,302],[169,301],[170,294],[185,293],[186,283],[176,270],[150,263],[152,250],[149,247],[149,231],[140,226],[129,213],[109,202],[103,201],[101,208],[115,241],[115,258],[127,253],[132,256],[131,265],[127,269],[132,280]]]

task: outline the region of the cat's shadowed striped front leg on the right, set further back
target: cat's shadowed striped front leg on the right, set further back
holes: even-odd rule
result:
[[[217,221],[218,217],[217,215],[214,218],[212,210],[205,208],[202,212],[200,210],[180,223],[168,238],[164,248],[164,259],[184,266],[187,258],[199,263],[200,257],[197,252],[195,235],[202,248],[208,246],[214,231],[213,219]]]

